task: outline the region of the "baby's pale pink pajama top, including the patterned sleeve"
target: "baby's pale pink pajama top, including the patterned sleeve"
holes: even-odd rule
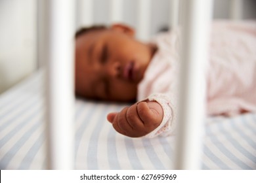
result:
[[[179,30],[158,35],[158,51],[139,84],[137,100],[158,101],[161,124],[146,137],[171,135],[177,124]],[[207,114],[234,116],[256,112],[256,22],[215,22],[211,29],[207,80]]]

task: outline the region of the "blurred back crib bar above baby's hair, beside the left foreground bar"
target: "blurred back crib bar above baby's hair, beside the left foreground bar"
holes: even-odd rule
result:
[[[93,0],[77,0],[77,27],[93,24]]]

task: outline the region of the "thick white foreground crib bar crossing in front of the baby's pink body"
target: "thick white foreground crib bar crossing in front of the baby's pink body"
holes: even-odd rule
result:
[[[210,0],[183,0],[181,88],[175,169],[200,169],[205,111],[205,61],[209,47]]]

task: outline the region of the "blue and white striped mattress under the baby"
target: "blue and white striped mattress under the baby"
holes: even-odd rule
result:
[[[0,169],[46,169],[43,73],[0,95]],[[75,169],[172,169],[175,137],[119,135],[123,105],[75,101]],[[205,120],[202,169],[256,169],[256,114]]]

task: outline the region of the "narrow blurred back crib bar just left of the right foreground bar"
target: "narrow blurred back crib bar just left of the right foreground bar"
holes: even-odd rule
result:
[[[169,7],[169,25],[171,28],[177,27],[179,24],[179,1],[180,0],[169,0],[170,7]]]

